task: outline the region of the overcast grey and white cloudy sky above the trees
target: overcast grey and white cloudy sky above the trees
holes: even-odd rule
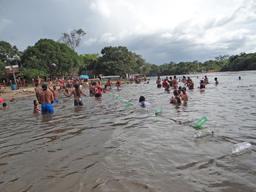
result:
[[[256,52],[256,0],[0,0],[0,41],[21,51],[83,29],[78,54],[125,46],[151,64]]]

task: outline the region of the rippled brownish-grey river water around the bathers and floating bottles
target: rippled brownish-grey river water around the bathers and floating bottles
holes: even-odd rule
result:
[[[255,73],[189,74],[196,88],[180,105],[169,103],[157,77],[102,99],[86,88],[79,107],[59,93],[52,114],[32,114],[35,97],[8,102],[0,111],[0,192],[255,192],[256,152],[231,153],[244,141],[256,149]],[[200,93],[205,74],[211,84]],[[123,103],[141,95],[148,112]],[[195,138],[172,120],[202,116],[215,136]]]

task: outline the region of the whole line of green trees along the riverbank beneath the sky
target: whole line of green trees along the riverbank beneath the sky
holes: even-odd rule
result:
[[[5,41],[0,41],[0,77],[8,79],[5,66],[13,59],[20,60],[24,69],[17,76],[26,79],[36,79],[37,76],[51,78],[57,76],[76,76],[81,71],[92,70],[93,75],[103,76],[128,74],[145,74],[147,76],[184,74],[191,72],[209,71],[238,71],[256,70],[256,53],[239,55],[220,55],[215,60],[192,62],[170,62],[155,65],[127,47],[104,47],[101,56],[98,53],[78,55],[75,52],[79,47],[81,36],[86,33],[82,30],[73,30],[70,34],[63,33],[58,41],[52,39],[40,39],[34,46],[27,47],[23,52],[19,51]],[[52,67],[51,64],[56,66]]]

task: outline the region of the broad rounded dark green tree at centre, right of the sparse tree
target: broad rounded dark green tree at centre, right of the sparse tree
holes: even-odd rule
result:
[[[120,75],[134,73],[136,61],[131,51],[126,47],[104,47],[101,51],[102,57],[97,62],[95,69],[102,75]]]

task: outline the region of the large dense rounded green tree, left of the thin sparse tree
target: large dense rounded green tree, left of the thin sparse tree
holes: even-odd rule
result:
[[[27,69],[36,69],[50,74],[57,73],[77,75],[81,66],[81,58],[65,44],[51,39],[40,39],[35,46],[29,46],[21,55],[21,63]],[[56,67],[51,67],[55,63]]]

